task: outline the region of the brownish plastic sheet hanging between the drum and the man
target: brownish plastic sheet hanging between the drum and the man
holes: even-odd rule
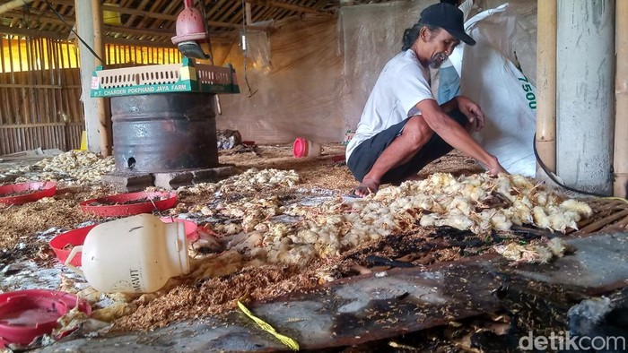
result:
[[[214,64],[234,65],[241,91],[220,96],[217,127],[238,130],[243,140],[257,143],[296,137],[342,142],[345,129],[337,107],[345,98],[336,20],[305,18],[269,35],[248,31],[246,37],[246,56],[240,38],[214,46]]]

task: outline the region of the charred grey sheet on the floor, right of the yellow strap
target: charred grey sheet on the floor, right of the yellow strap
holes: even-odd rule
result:
[[[497,310],[492,291],[502,280],[485,267],[488,258],[442,263],[428,271],[376,272],[252,310],[303,349],[392,338]]]

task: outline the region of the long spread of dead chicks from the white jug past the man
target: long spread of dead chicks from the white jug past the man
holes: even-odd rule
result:
[[[314,206],[284,206],[276,197],[254,196],[215,211],[241,219],[242,232],[224,235],[214,228],[226,237],[212,240],[215,254],[196,256],[204,261],[195,266],[195,276],[223,275],[263,263],[308,263],[420,227],[449,226],[478,235],[513,224],[565,231],[591,214],[585,202],[564,199],[525,176],[457,178],[444,173],[353,202],[333,197]],[[291,221],[284,220],[286,216]]]

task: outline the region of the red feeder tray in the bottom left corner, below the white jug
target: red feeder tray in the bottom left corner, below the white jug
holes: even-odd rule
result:
[[[77,305],[83,313],[92,314],[87,301],[59,290],[26,289],[0,294],[0,347],[12,343],[27,346],[34,338],[52,333],[57,319]]]

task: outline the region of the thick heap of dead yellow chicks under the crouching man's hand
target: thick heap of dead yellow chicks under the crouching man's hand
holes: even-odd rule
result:
[[[420,224],[449,226],[486,234],[507,230],[512,224],[534,225],[551,231],[577,229],[577,222],[591,215],[585,202],[565,199],[520,175],[487,174],[459,176],[436,173],[372,197],[390,202],[390,208],[421,212]]]

